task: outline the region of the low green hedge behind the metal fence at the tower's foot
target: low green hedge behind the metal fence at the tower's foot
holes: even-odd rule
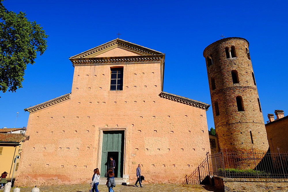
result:
[[[226,174],[225,174],[225,172]],[[219,168],[218,172],[221,174],[225,174],[226,177],[233,177],[233,178],[270,178],[270,173],[265,171],[257,171],[253,169],[222,169]],[[230,174],[229,174],[230,173]],[[258,173],[258,175],[257,175]]]

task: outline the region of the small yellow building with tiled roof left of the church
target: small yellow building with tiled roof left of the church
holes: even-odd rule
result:
[[[14,159],[16,155],[21,156],[23,143],[29,136],[21,133],[0,133],[0,174],[6,171],[7,178],[12,177]],[[16,159],[16,168],[13,175],[15,178],[18,169],[19,159]]]

